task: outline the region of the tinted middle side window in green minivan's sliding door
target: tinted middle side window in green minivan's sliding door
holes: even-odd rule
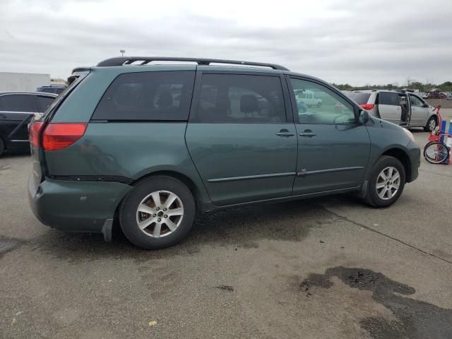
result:
[[[277,76],[204,74],[198,122],[285,122],[283,88]]]

